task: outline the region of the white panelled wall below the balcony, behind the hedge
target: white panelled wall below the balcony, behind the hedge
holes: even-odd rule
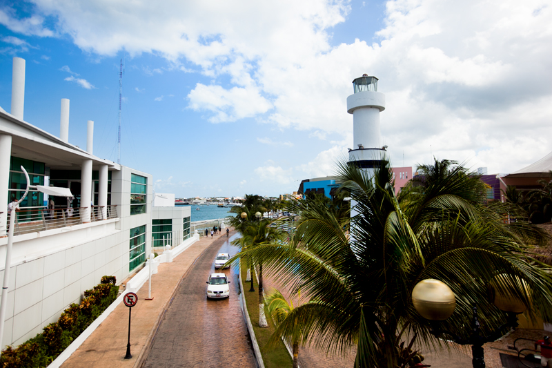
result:
[[[147,204],[146,213],[130,216],[131,173],[148,178],[150,203],[152,176],[123,166],[112,172],[112,204],[117,205],[118,219],[14,237],[3,347],[20,345],[56,322],[103,275],[114,275],[117,283],[128,278],[130,229],[146,225],[146,254],[150,253],[152,207]],[[0,239],[0,267],[6,262],[6,242]],[[3,275],[1,269],[0,282]]]

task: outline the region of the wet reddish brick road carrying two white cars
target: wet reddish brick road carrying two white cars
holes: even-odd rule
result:
[[[144,367],[256,367],[239,307],[235,267],[224,270],[231,280],[230,298],[206,299],[205,282],[215,272],[217,253],[233,255],[238,251],[226,239],[213,242],[190,267],[159,326]]]

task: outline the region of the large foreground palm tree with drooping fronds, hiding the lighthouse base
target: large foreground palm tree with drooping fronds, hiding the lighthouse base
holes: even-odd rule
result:
[[[241,256],[262,259],[290,291],[300,289],[317,301],[296,307],[290,316],[316,347],[356,347],[355,367],[406,365],[412,354],[403,354],[403,335],[417,336],[424,345],[440,344],[411,301],[414,286],[428,278],[442,280],[456,296],[455,312],[441,322],[442,329],[462,333],[474,305],[484,331],[502,325],[504,313],[487,300],[497,275],[504,275],[531,316],[552,320],[547,273],[552,269],[531,258],[531,244],[540,244],[542,234],[526,222],[504,224],[501,213],[483,206],[484,186],[477,175],[452,164],[435,160],[426,166],[422,185],[405,188],[397,198],[388,164],[371,176],[339,163],[339,183],[351,193],[358,213],[350,226],[322,202],[299,200],[288,208],[299,221],[279,223],[293,234],[289,244],[259,244]],[[518,278],[533,291],[532,304]]]

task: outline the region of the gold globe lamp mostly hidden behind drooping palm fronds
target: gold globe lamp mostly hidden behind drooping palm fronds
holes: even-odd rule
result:
[[[491,300],[501,311],[519,314],[526,311],[527,307],[523,300],[513,292],[514,285],[524,290],[529,297],[529,303],[533,302],[531,289],[525,280],[517,276],[508,277],[505,273],[495,275],[491,279]]]

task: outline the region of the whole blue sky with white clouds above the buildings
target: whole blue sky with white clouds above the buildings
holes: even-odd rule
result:
[[[552,6],[525,1],[0,0],[0,106],[180,197],[277,195],[353,145],[351,81],[380,79],[394,166],[516,171],[552,151]]]

